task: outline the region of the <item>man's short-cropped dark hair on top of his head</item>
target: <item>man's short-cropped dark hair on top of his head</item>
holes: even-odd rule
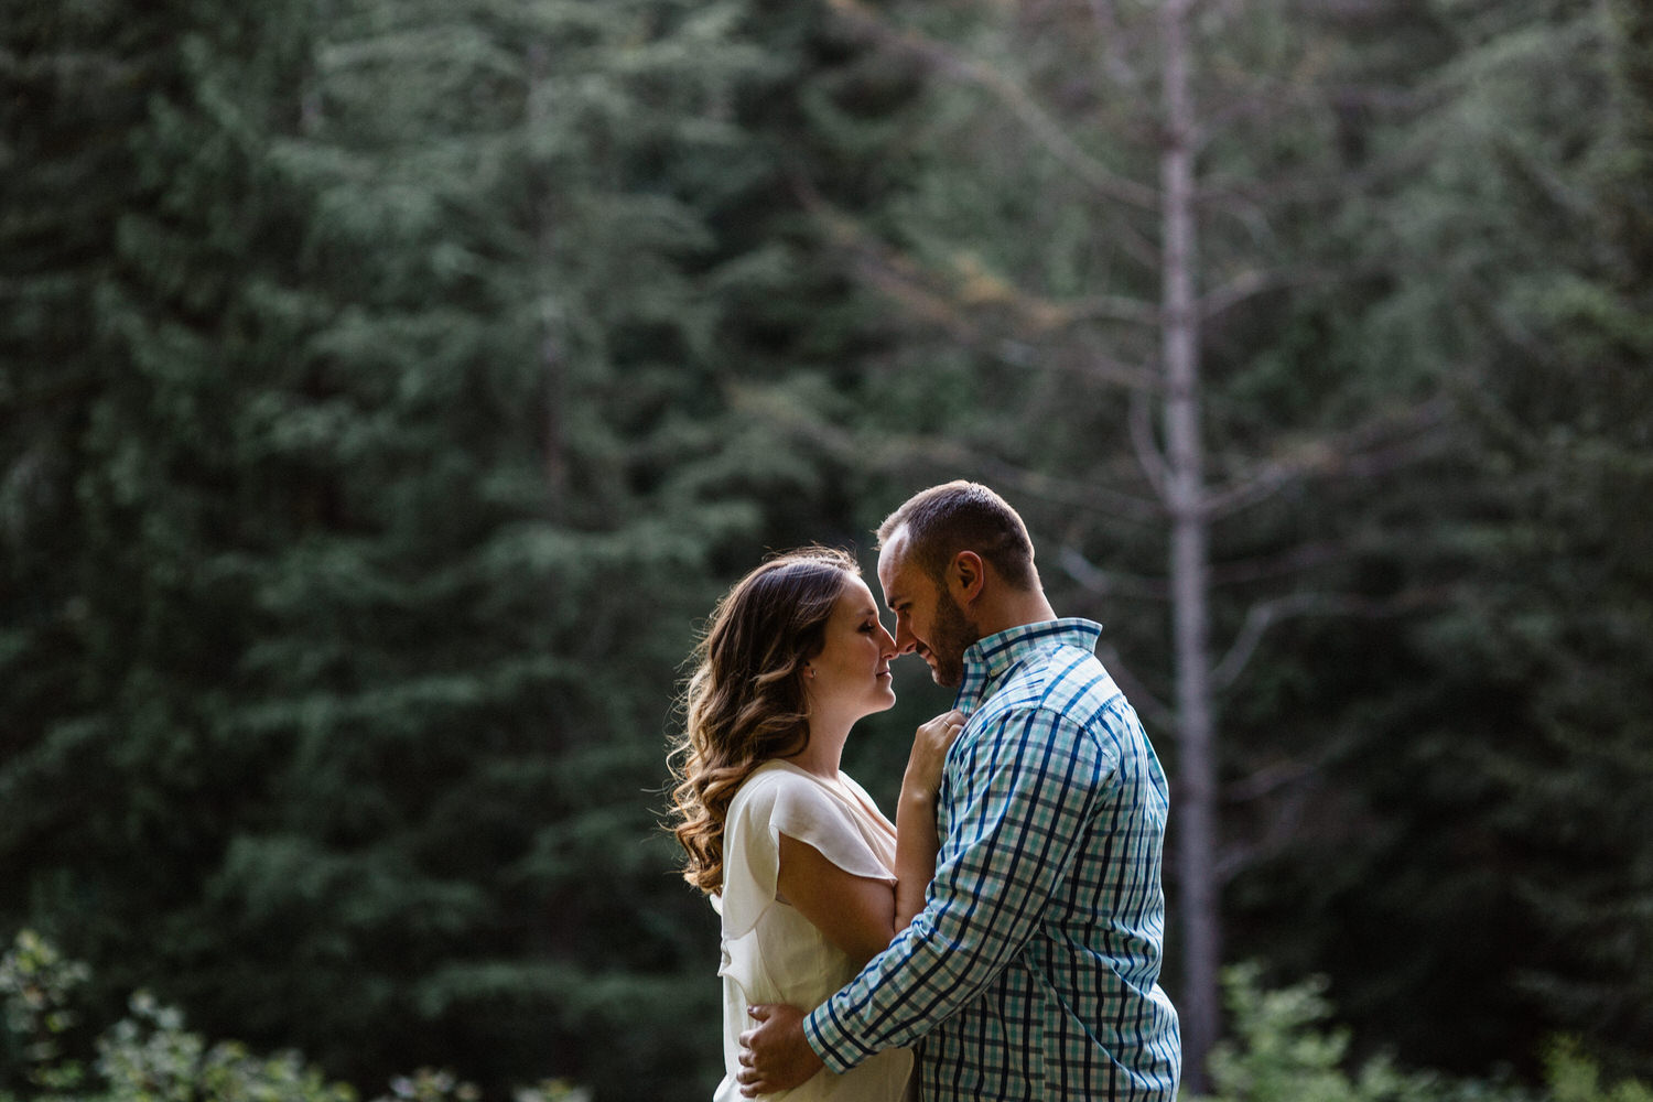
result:
[[[884,547],[903,527],[907,558],[944,588],[947,565],[962,550],[980,555],[1008,585],[1038,588],[1027,525],[1003,497],[980,482],[959,479],[907,497],[878,525],[878,545]]]

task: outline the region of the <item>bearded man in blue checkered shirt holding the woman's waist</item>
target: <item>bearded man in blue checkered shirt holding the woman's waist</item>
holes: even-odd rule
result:
[[[742,1094],[919,1047],[926,1102],[1170,1102],[1177,1011],[1159,988],[1167,788],[1136,712],[1058,620],[1022,517],[947,482],[878,529],[898,654],[970,719],[937,793],[924,910],[810,1014],[754,1006]]]

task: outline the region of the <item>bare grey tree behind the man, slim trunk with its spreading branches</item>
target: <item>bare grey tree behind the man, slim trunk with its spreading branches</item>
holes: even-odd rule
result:
[[[1227,268],[1238,268],[1238,273],[1230,274],[1228,281],[1220,286],[1203,287],[1203,297],[1200,294],[1202,258],[1195,215],[1198,203],[1210,203],[1213,197],[1198,198],[1195,154],[1208,137],[1205,131],[1227,127],[1231,121],[1225,116],[1231,116],[1238,106],[1218,102],[1223,91],[1210,93],[1212,102],[1195,102],[1195,78],[1205,78],[1213,88],[1231,89],[1233,94],[1241,94],[1240,86],[1246,81],[1230,79],[1230,76],[1240,74],[1198,69],[1198,36],[1192,18],[1197,10],[1195,0],[1159,0],[1154,7],[1094,0],[1089,5],[1096,31],[1101,35],[1099,41],[1109,50],[1104,79],[1119,83],[1109,96],[1121,104],[1129,104],[1124,121],[1112,119],[1112,126],[1122,126],[1124,134],[1111,134],[1109,140],[1117,137],[1122,144],[1134,145],[1139,134],[1152,132],[1159,142],[1155,150],[1159,154],[1159,188],[1121,175],[1114,165],[1093,155],[1088,150],[1088,142],[1078,140],[1076,135],[1081,134],[1078,127],[1094,126],[1096,119],[1086,112],[1083,121],[1076,122],[1073,114],[1041,102],[1036,81],[1027,83],[992,59],[972,56],[969,50],[944,38],[893,23],[878,5],[866,0],[828,0],[828,5],[856,35],[926,66],[927,71],[984,93],[990,104],[1022,127],[1030,149],[1048,155],[1069,170],[1076,180],[1088,185],[1093,193],[1094,213],[1112,233],[1109,245],[1117,248],[1122,258],[1142,263],[1146,269],[1152,269],[1159,276],[1157,302],[1122,294],[1046,299],[1038,294],[1025,294],[1022,287],[1015,286],[1013,278],[998,283],[998,273],[992,273],[993,289],[987,296],[993,309],[1007,316],[1008,321],[1002,324],[1018,330],[1030,345],[1056,340],[1058,349],[1073,349],[1074,345],[1055,334],[1063,325],[1078,321],[1142,325],[1141,330],[1131,332],[1127,344],[1109,340],[1103,345],[1086,335],[1076,339],[1084,342],[1079,345],[1079,352],[1091,378],[1131,392],[1131,415],[1126,428],[1146,481],[1159,497],[1157,502],[1091,481],[1063,484],[1043,471],[1023,471],[1005,463],[984,459],[979,453],[959,446],[957,441],[884,436],[876,443],[876,448],[884,449],[889,456],[922,454],[927,463],[949,469],[972,469],[974,466],[995,479],[1013,479],[1013,484],[1048,501],[1083,502],[1081,507],[1109,517],[1129,515],[1137,520],[1159,522],[1159,509],[1164,509],[1164,515],[1169,517],[1165,596],[1172,606],[1175,697],[1174,704],[1167,707],[1159,707],[1159,702],[1146,692],[1132,691],[1132,699],[1137,701],[1139,710],[1149,710],[1149,722],[1154,722],[1154,710],[1167,714],[1165,722],[1175,732],[1177,793],[1170,846],[1175,882],[1180,889],[1179,919],[1182,925],[1180,953],[1174,950],[1177,970],[1182,973],[1177,1008],[1182,1018],[1184,1082],[1190,1092],[1203,1092],[1207,1084],[1205,1061],[1222,1026],[1220,886],[1228,872],[1225,862],[1218,861],[1222,824],[1217,785],[1217,694],[1235,682],[1270,623],[1286,615],[1331,615],[1339,610],[1359,611],[1367,606],[1336,595],[1314,598],[1296,595],[1291,600],[1260,605],[1246,616],[1245,628],[1233,648],[1218,663],[1212,648],[1210,623],[1217,585],[1210,547],[1213,522],[1263,501],[1286,486],[1298,486],[1304,479],[1362,477],[1415,461],[1435,446],[1431,435],[1440,431],[1441,408],[1430,401],[1400,416],[1375,413],[1365,425],[1352,431],[1337,436],[1321,435],[1312,446],[1301,441],[1288,446],[1289,441],[1283,438],[1276,448],[1270,449],[1274,453],[1273,458],[1266,453],[1263,456],[1227,453],[1222,466],[1231,469],[1231,474],[1212,477],[1207,471],[1200,410],[1203,387],[1200,378],[1202,319],[1238,309],[1251,296],[1271,287],[1291,286],[1309,273],[1294,274],[1258,268],[1260,258],[1236,256],[1236,246],[1230,245],[1225,248],[1227,259],[1241,263],[1230,263]],[[1055,10],[1061,5],[1035,7]],[[1124,7],[1131,7],[1131,20],[1119,18]],[[1240,5],[1228,5],[1223,18],[1238,26],[1238,20],[1233,17],[1240,15],[1241,7],[1243,0]],[[1146,36],[1146,31],[1150,30],[1149,23],[1136,23],[1136,12],[1150,12],[1147,18],[1155,20],[1154,26],[1160,35],[1157,56],[1152,58],[1160,68],[1160,104],[1155,119],[1159,127],[1154,131],[1144,126],[1146,116],[1152,111],[1139,93],[1150,89],[1147,74],[1154,66],[1147,63],[1144,55],[1154,51],[1155,45]],[[1084,33],[1078,25],[1071,30],[1076,41]],[[1088,53],[1081,51],[1079,56],[1086,58],[1086,64],[1094,64]],[[1142,61],[1141,68],[1139,59]],[[1241,114],[1276,107],[1281,111],[1296,109],[1301,102],[1293,99],[1289,86],[1291,81],[1286,81],[1284,93],[1288,94],[1281,94],[1278,102],[1273,94],[1243,93],[1246,99],[1256,102],[1246,106]],[[1314,93],[1316,89],[1304,88],[1301,91]],[[1306,99],[1308,96],[1304,96]],[[1284,197],[1286,192],[1279,192],[1279,195]],[[1281,202],[1284,203],[1286,198]],[[974,284],[975,281],[960,279],[959,271],[926,264],[914,254],[903,253],[853,218],[825,208],[818,200],[813,200],[813,205],[830,220],[833,238],[853,253],[861,279],[886,294],[921,327],[946,334],[949,340],[967,347],[990,347],[990,355],[1000,360],[1003,355],[1002,334],[993,329],[993,322],[977,324],[977,314],[984,302],[982,287],[972,286],[969,291],[964,287],[965,283]],[[1157,243],[1152,240],[1152,233],[1141,231],[1150,218],[1159,220]],[[1217,264],[1207,271],[1222,271],[1223,268]],[[1073,324],[1073,332],[1086,334],[1088,329]],[[1146,335],[1147,340],[1137,344],[1139,334]],[[1150,349],[1144,345],[1154,337],[1157,337],[1157,363],[1137,363],[1137,357],[1152,359]],[[1155,397],[1160,400],[1157,410]],[[1155,411],[1160,416],[1162,438],[1154,433]],[[810,431],[820,439],[818,426]],[[1438,435],[1433,438],[1438,439]],[[865,441],[848,436],[836,446],[848,461],[869,463],[869,444]],[[1093,568],[1073,547],[1063,549],[1063,563],[1081,585],[1096,587],[1099,593],[1103,583],[1117,590],[1117,578],[1112,582],[1088,578],[1086,575],[1101,575],[1103,572]],[[1152,595],[1160,596],[1157,587]],[[1116,667],[1116,672],[1119,671],[1119,664],[1109,664]]]

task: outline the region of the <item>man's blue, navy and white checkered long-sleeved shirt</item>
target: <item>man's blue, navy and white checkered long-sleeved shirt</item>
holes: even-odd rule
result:
[[[803,1019],[831,1071],[921,1044],[926,1102],[1175,1099],[1165,773],[1099,636],[1051,620],[965,651],[924,910]]]

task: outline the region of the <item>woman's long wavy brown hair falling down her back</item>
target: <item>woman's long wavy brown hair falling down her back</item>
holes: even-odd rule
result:
[[[734,793],[759,765],[810,742],[803,664],[820,654],[838,596],[860,575],[850,553],[808,547],[767,560],[712,610],[691,656],[684,730],[671,750],[671,829],[688,853],[683,879],[706,894],[722,887]]]

